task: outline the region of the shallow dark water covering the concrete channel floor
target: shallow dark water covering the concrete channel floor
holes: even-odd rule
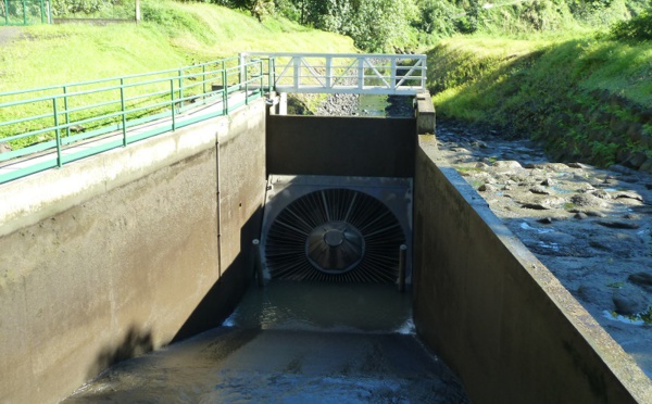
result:
[[[272,282],[215,328],[123,362],[65,402],[465,403],[392,286]]]

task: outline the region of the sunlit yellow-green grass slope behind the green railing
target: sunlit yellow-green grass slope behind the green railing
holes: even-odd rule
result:
[[[214,4],[143,0],[138,25],[16,28],[17,36],[0,45],[0,92],[175,68],[243,51],[355,52],[341,35],[283,18],[261,24]]]

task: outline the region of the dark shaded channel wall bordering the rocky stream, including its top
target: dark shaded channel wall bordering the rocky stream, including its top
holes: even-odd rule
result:
[[[438,159],[416,150],[414,316],[475,403],[650,403],[648,377]]]

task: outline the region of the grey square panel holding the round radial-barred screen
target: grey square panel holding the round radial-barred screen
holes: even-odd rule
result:
[[[410,187],[391,186],[405,180],[392,179],[390,187],[383,187],[383,181],[376,179],[371,189],[364,189],[360,187],[365,184],[362,179],[312,179],[308,186],[305,180],[293,178],[280,192],[268,195],[263,225],[267,277],[397,282],[401,245],[410,239],[405,228],[409,219],[399,216],[409,211],[411,193]],[[356,182],[358,189],[351,182]]]

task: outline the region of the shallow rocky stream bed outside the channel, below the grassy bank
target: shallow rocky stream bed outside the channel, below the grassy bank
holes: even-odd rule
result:
[[[652,378],[652,175],[438,122],[441,154]]]

